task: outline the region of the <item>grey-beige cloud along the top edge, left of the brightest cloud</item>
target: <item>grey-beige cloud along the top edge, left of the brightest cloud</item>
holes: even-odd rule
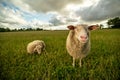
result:
[[[59,11],[68,3],[80,4],[83,0],[23,0],[36,11]]]

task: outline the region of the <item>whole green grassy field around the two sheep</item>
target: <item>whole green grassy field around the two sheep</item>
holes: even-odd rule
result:
[[[72,67],[66,51],[68,31],[0,33],[0,80],[118,80],[120,79],[120,29],[91,32],[91,52]],[[42,39],[47,54],[29,55],[30,41]]]

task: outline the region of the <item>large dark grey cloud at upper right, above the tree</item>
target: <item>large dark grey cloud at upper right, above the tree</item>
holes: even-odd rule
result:
[[[101,21],[120,16],[120,0],[100,0],[96,6],[79,9],[76,14],[85,21]]]

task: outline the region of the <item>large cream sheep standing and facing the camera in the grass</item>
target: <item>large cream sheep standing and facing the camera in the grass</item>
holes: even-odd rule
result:
[[[79,65],[81,67],[82,58],[90,51],[89,31],[97,29],[98,25],[87,26],[81,24],[76,26],[70,25],[67,27],[70,32],[66,40],[66,49],[73,57],[73,67],[75,66],[75,59],[80,59]]]

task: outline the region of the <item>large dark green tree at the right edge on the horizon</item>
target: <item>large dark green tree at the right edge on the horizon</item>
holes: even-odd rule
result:
[[[120,28],[120,18],[119,17],[115,17],[113,19],[109,19],[107,24],[111,28]]]

